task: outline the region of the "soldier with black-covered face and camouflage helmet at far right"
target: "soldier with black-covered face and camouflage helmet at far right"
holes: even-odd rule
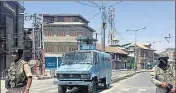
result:
[[[156,93],[176,93],[175,67],[168,63],[168,54],[162,52],[159,55],[159,64],[153,67],[151,80],[157,86]]]

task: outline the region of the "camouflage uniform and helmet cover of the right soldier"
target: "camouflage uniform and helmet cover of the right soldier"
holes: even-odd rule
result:
[[[164,56],[168,57],[167,54],[161,54],[159,58]],[[157,86],[156,93],[166,93],[166,89],[160,86],[162,82],[172,84],[175,88],[175,67],[172,64],[169,64],[167,65],[167,69],[163,70],[156,65],[151,72],[151,81]]]

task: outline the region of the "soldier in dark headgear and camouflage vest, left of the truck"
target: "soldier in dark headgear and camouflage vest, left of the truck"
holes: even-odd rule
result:
[[[21,59],[22,55],[22,49],[12,50],[14,62],[11,63],[5,80],[7,93],[29,93],[32,83],[32,73],[27,62]]]

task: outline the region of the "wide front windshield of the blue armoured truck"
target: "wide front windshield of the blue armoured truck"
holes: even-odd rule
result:
[[[91,52],[70,52],[63,57],[63,64],[91,64]]]

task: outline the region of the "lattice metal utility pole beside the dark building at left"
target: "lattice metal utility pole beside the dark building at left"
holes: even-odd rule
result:
[[[27,20],[27,17],[30,17]],[[37,17],[37,14],[30,14],[30,16],[25,16],[25,20],[32,20],[32,53],[33,53],[33,61],[39,61],[35,64],[34,72],[39,73],[39,66],[43,63],[42,60],[42,25],[41,18]],[[31,63],[34,64],[34,63]]]

